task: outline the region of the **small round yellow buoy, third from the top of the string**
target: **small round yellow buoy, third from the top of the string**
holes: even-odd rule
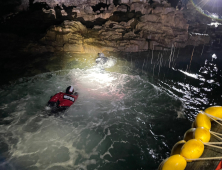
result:
[[[204,127],[198,127],[194,132],[194,138],[199,139],[202,142],[209,142],[210,137],[210,131]]]

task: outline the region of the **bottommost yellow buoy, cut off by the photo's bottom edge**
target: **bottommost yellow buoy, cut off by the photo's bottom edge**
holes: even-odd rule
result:
[[[184,170],[187,166],[187,162],[181,155],[173,155],[164,160],[158,170]]]

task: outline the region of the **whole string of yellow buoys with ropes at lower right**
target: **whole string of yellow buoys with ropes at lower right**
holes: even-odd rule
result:
[[[222,142],[209,142],[211,135],[222,141],[222,134],[211,131],[211,121],[222,126],[222,106],[212,106],[205,111],[200,111],[192,124],[192,128],[185,132],[184,140],[177,142],[171,156],[159,165],[158,170],[184,170],[187,162],[196,160],[216,160],[222,157],[200,158],[204,152],[204,146],[222,149]]]

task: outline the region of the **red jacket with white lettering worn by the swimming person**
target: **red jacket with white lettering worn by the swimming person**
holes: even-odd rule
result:
[[[78,95],[71,95],[66,93],[55,94],[49,102],[58,102],[58,107],[70,107],[78,98]]]

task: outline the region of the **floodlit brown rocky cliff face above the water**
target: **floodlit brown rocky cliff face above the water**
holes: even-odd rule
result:
[[[210,42],[207,35],[190,34],[189,17],[165,0],[23,0],[20,8],[35,3],[50,21],[64,22],[50,26],[25,51],[138,52]]]

